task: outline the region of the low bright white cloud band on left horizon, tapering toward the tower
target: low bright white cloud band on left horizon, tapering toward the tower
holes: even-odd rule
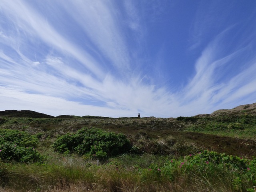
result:
[[[28,94],[21,90],[2,86],[0,86],[0,100],[5,101],[1,104],[0,110],[24,110],[24,106],[26,106],[26,110],[34,110],[53,116],[62,114],[109,117],[120,117],[126,116],[127,114],[133,115],[131,111],[84,105],[79,102],[70,102],[62,98],[47,95]]]

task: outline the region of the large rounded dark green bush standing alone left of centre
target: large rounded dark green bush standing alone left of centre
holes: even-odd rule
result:
[[[53,148],[60,153],[77,152],[81,155],[105,159],[128,152],[131,144],[124,134],[98,128],[82,128],[76,134],[60,136],[54,142]]]

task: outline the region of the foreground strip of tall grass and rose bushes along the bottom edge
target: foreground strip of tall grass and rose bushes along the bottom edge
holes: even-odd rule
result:
[[[256,184],[255,159],[207,151],[185,158],[124,155],[98,165],[76,156],[2,165],[6,191],[252,192]]]

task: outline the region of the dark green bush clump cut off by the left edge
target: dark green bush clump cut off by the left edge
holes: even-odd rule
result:
[[[17,162],[42,161],[42,156],[35,150],[38,139],[24,131],[0,130],[0,158]]]

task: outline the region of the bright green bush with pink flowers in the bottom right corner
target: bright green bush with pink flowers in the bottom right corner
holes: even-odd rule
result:
[[[164,166],[151,164],[148,170],[142,171],[142,176],[144,179],[153,177],[155,180],[168,181],[182,178],[187,187],[197,186],[198,191],[254,192],[256,159],[204,151],[183,159],[169,160]]]

